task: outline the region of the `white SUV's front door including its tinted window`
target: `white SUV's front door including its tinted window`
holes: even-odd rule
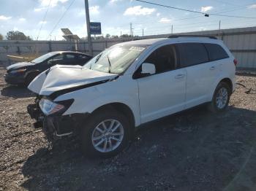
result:
[[[156,74],[137,80],[140,99],[141,122],[164,117],[184,109],[186,70],[177,69],[176,47],[159,47],[146,58],[145,63],[153,63]],[[141,66],[136,72],[141,71]]]

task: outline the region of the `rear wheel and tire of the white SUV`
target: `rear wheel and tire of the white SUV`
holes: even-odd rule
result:
[[[214,96],[208,104],[208,109],[214,113],[225,111],[230,101],[230,95],[230,86],[225,82],[219,82],[219,85],[217,85],[214,91]]]

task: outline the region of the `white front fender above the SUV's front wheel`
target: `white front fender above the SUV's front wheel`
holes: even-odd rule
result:
[[[131,76],[121,76],[111,82],[87,87],[72,93],[60,95],[54,101],[74,98],[74,103],[65,114],[91,113],[100,106],[111,103],[122,103],[132,110],[135,125],[140,125],[140,104],[138,98],[138,85]]]

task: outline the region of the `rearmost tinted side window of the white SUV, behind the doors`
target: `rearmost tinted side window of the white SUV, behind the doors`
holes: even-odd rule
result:
[[[210,61],[228,58],[227,52],[219,44],[204,44],[209,54]]]

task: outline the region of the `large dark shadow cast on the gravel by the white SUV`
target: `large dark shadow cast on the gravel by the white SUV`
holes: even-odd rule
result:
[[[78,141],[42,148],[22,168],[26,190],[253,190],[256,112],[197,107],[143,125],[116,157],[90,160]],[[249,182],[249,183],[248,183]]]

